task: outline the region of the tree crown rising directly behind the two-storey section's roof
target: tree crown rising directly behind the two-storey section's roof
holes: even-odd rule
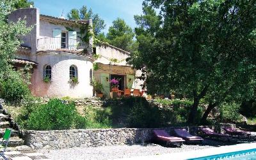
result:
[[[82,6],[80,10],[73,8],[67,15],[70,20],[89,20],[93,22],[93,33],[98,36],[100,32],[106,28],[106,24],[98,14],[94,14],[92,8],[88,10],[86,6]]]

